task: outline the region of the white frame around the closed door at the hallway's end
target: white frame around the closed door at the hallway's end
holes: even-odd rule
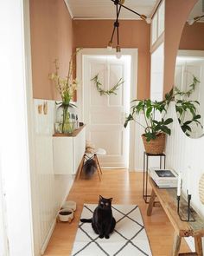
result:
[[[131,56],[131,101],[137,98],[137,49],[121,49],[123,55]],[[77,90],[77,106],[79,109],[79,120],[84,121],[84,82],[83,77],[83,62],[84,56],[115,56],[115,51],[109,51],[103,48],[85,48],[81,49],[77,55],[77,78],[80,81],[79,89]],[[129,154],[129,170],[135,170],[135,152],[136,152],[136,133],[135,122],[130,124],[130,154]]]

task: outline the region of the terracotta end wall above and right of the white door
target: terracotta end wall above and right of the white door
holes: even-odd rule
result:
[[[111,39],[113,21],[73,21],[73,48],[106,48]],[[143,21],[120,22],[120,46],[138,49],[137,98],[150,96],[150,25]]]

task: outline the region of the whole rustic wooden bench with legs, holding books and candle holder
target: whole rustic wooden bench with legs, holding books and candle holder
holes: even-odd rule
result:
[[[171,224],[175,229],[174,244],[172,248],[171,256],[178,255],[197,255],[203,256],[202,254],[202,243],[201,237],[204,236],[204,221],[192,208],[192,214],[194,222],[186,222],[180,220],[177,214],[177,200],[176,200],[176,189],[175,188],[158,188],[156,183],[149,177],[152,192],[150,196],[150,203],[147,209],[147,215],[150,216],[154,207],[154,202],[157,199],[160,201],[163,210],[169,217]],[[180,200],[181,212],[186,206],[186,201],[181,197]],[[181,240],[183,237],[192,236],[194,237],[195,253],[179,253]]]

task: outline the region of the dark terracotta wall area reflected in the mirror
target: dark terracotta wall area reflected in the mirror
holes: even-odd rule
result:
[[[179,49],[204,50],[204,23],[185,24]]]

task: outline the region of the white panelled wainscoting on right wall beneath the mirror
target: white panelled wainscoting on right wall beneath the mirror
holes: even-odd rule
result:
[[[177,121],[174,102],[169,106],[168,115],[174,119],[174,122],[171,128],[172,134],[168,136],[166,145],[167,166],[175,169],[176,172],[182,171],[183,193],[186,193],[187,177],[190,176],[192,205],[204,217],[204,205],[201,204],[198,190],[201,175],[204,174],[204,137],[191,139],[183,134]]]

